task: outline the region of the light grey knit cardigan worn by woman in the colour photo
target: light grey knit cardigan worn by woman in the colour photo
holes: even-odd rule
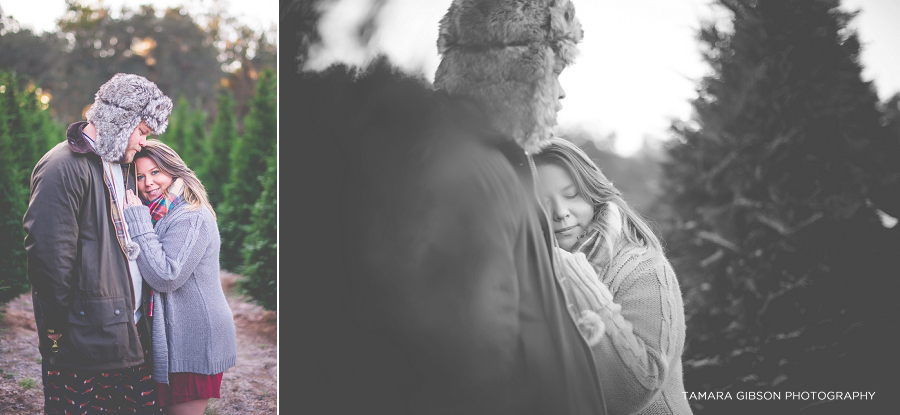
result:
[[[137,258],[153,289],[153,378],[221,373],[235,364],[234,319],[219,280],[219,228],[206,208],[189,211],[180,199],[156,223],[146,206],[125,208]]]

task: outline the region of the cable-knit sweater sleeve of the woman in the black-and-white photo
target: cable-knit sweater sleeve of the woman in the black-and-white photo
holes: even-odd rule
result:
[[[595,311],[605,334],[591,351],[611,414],[635,413],[656,398],[670,373],[671,353],[676,353],[672,339],[684,330],[672,318],[678,294],[666,282],[671,270],[659,261],[629,261],[638,258],[617,261],[620,266],[611,270],[627,273],[610,280],[621,281],[615,298],[606,285],[596,284],[603,295]]]

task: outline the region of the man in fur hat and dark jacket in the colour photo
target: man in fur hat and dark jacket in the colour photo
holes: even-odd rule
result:
[[[122,210],[130,163],[171,110],[153,82],[116,74],[32,172],[23,226],[46,413],[160,413],[145,362],[149,290]]]

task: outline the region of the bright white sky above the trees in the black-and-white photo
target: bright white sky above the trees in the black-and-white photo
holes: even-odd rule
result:
[[[400,67],[434,79],[438,21],[451,0],[389,0],[372,44]],[[580,56],[560,82],[566,90],[560,130],[582,128],[615,135],[615,150],[634,154],[644,140],[669,138],[672,119],[688,120],[689,100],[710,72],[696,40],[701,22],[727,16],[709,0],[573,0],[584,28]],[[373,54],[352,29],[369,0],[337,0],[320,21],[323,47],[310,52],[309,69],[334,62],[362,64]],[[900,1],[843,0],[862,9],[851,23],[863,45],[863,79],[882,100],[900,92]]]

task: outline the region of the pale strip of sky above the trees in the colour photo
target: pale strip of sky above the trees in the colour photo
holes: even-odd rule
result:
[[[278,24],[278,0],[80,0],[85,5],[109,6],[116,16],[122,6],[137,9],[144,4],[152,4],[157,10],[167,7],[185,6],[188,12],[206,12],[218,4],[229,15],[238,16],[239,21],[257,30],[268,30]],[[65,0],[0,0],[3,15],[10,15],[19,24],[37,33],[52,31],[56,20],[66,12]],[[194,13],[196,14],[196,13]]]

